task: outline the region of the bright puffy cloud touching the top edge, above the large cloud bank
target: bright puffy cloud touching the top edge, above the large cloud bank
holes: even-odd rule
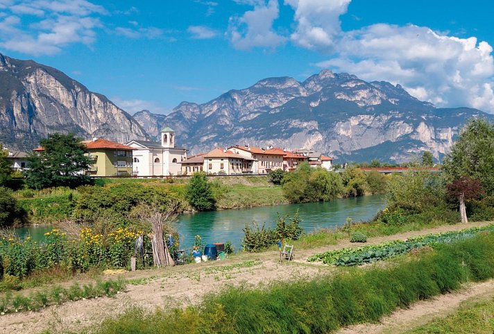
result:
[[[285,0],[295,10],[296,31],[291,40],[307,49],[332,47],[341,33],[339,16],[351,0]]]

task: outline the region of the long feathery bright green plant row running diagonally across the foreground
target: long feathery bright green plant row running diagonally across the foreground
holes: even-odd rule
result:
[[[322,334],[376,322],[396,308],[493,276],[494,239],[478,235],[401,258],[386,268],[349,268],[337,276],[278,282],[255,290],[230,287],[185,309],[133,308],[79,333]]]

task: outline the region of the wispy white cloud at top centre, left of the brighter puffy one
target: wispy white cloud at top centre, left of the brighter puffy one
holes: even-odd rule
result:
[[[278,0],[235,0],[237,3],[254,6],[241,17],[230,17],[228,36],[235,49],[264,47],[274,49],[286,42],[287,37],[279,35],[273,29],[280,8]]]

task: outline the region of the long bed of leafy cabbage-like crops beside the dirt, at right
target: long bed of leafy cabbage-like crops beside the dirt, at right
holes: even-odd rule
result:
[[[420,249],[438,243],[450,243],[474,237],[483,231],[494,231],[494,224],[484,227],[466,228],[461,231],[450,231],[445,233],[433,233],[412,237],[409,240],[395,240],[382,242],[381,244],[369,245],[357,248],[343,248],[325,253],[315,254],[307,259],[309,262],[323,261],[326,265],[354,266],[363,263],[384,260],[393,256],[408,253],[412,249]]]

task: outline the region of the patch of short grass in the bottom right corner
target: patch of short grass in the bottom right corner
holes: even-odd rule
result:
[[[485,301],[463,302],[457,312],[404,332],[404,334],[447,333],[494,333],[494,298]]]

